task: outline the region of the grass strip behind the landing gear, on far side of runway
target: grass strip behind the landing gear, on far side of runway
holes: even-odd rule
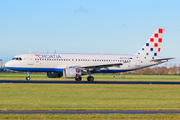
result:
[[[25,80],[27,73],[0,73],[0,80]],[[108,75],[93,74],[95,81],[180,81],[180,75]],[[113,77],[115,76],[115,77]],[[31,74],[31,80],[72,80],[67,78],[48,78],[46,74]],[[87,81],[87,75],[82,76],[82,81]]]

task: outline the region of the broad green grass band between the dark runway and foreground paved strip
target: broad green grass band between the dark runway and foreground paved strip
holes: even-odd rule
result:
[[[0,110],[180,110],[179,85],[1,84]]]

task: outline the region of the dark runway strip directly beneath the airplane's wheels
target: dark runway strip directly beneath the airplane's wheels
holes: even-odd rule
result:
[[[40,80],[0,80],[0,83],[39,83],[39,84],[173,84],[180,85],[180,82],[167,81],[40,81]]]

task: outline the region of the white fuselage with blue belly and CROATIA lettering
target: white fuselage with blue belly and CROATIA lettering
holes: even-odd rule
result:
[[[20,59],[21,58],[21,59]],[[161,57],[147,57],[141,55],[104,55],[104,54],[50,54],[28,53],[15,56],[5,66],[8,69],[27,72],[63,72],[64,68],[72,66],[122,63],[121,66],[101,68],[92,73],[116,73],[136,70],[148,66],[157,65],[165,61],[152,62]]]

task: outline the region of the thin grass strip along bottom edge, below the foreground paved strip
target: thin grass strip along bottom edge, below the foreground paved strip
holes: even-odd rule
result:
[[[180,114],[31,114],[31,115],[14,115],[0,114],[1,120],[49,120],[49,119],[71,119],[71,120],[179,120]]]

